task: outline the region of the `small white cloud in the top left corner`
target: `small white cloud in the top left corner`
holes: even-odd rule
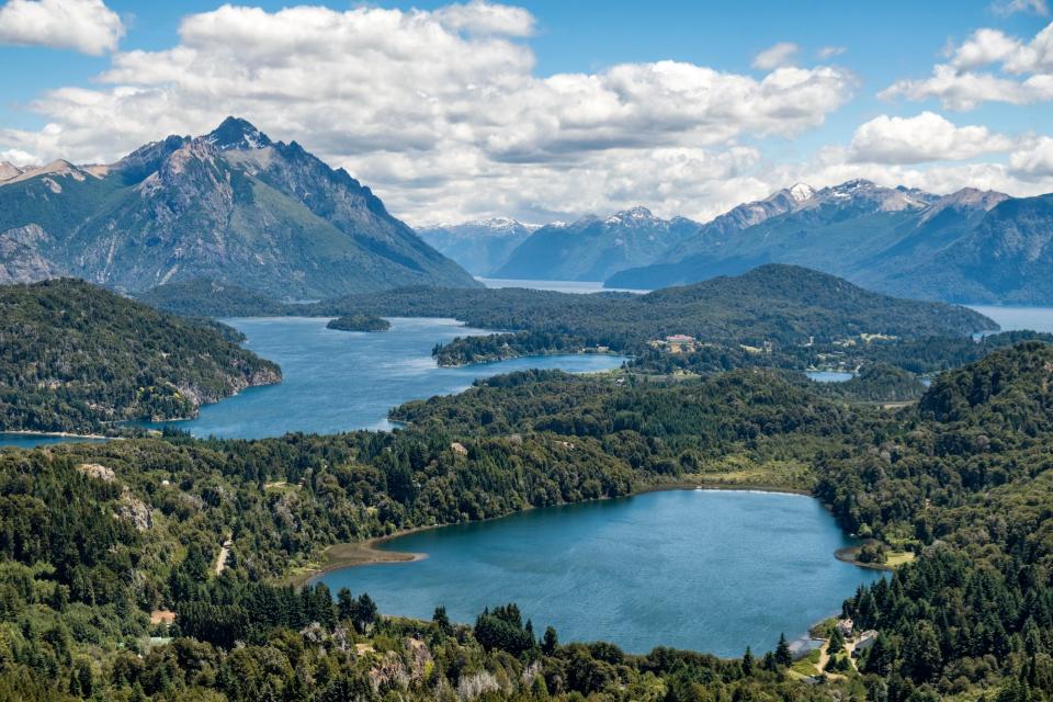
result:
[[[8,0],[0,44],[71,48],[100,55],[117,48],[124,24],[102,0]]]

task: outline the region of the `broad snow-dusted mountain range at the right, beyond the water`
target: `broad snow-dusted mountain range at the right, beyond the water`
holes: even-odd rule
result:
[[[812,191],[793,203],[786,193],[739,205],[670,248],[661,261],[616,273],[607,286],[664,287],[784,262],[894,295],[1053,302],[1051,196],[1015,199],[975,189],[939,196],[861,180]],[[759,214],[736,229],[736,223],[749,222],[741,212]]]

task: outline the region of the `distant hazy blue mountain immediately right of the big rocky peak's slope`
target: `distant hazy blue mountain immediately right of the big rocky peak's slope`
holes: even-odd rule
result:
[[[417,229],[420,238],[474,275],[489,275],[539,225],[508,217],[494,217],[464,224],[438,225]]]

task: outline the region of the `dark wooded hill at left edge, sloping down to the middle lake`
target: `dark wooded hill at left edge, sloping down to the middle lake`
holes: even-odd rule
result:
[[[281,371],[233,329],[157,312],[83,281],[0,286],[0,430],[99,431],[195,415]]]

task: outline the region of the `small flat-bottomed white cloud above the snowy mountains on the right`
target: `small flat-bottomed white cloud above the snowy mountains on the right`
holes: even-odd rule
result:
[[[961,160],[1008,151],[1014,141],[985,126],[959,127],[944,117],[922,112],[915,117],[881,115],[856,129],[850,158],[871,163],[922,163]]]

